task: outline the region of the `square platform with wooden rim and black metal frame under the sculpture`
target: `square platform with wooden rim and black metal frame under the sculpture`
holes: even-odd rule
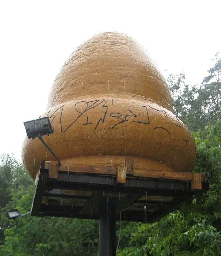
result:
[[[32,216],[98,219],[103,202],[116,205],[116,219],[153,222],[209,189],[206,175],[124,166],[87,166],[42,161]],[[145,206],[145,207],[144,207]]]

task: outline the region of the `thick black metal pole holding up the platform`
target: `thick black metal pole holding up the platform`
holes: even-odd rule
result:
[[[111,203],[100,206],[99,256],[116,256],[115,205]]]

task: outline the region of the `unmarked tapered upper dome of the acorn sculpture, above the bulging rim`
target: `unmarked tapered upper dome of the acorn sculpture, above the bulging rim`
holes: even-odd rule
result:
[[[52,86],[48,109],[88,94],[125,93],[173,112],[168,85],[148,52],[125,34],[99,33],[81,44],[64,63]]]

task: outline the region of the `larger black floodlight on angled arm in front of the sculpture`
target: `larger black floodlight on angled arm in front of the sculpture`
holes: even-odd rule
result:
[[[24,122],[26,133],[29,139],[34,139],[36,137],[41,140],[41,142],[45,145],[46,148],[51,152],[51,154],[57,159],[58,164],[61,164],[60,159],[55,155],[54,151],[45,143],[45,141],[41,138],[43,135],[49,135],[54,133],[54,129],[51,125],[49,116],[37,118],[31,121]]]

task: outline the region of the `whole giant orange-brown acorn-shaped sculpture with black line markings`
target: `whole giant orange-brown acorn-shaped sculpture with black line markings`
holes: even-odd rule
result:
[[[148,53],[120,33],[100,33],[80,45],[57,75],[47,111],[54,133],[43,136],[62,163],[124,165],[189,172],[195,142],[174,114],[164,77]],[[33,179],[41,160],[55,160],[40,140],[23,143]]]

